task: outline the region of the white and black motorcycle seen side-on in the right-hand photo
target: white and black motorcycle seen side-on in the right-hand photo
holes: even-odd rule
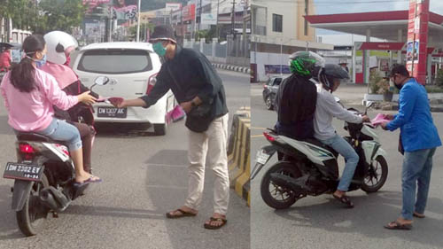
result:
[[[366,111],[360,113],[354,108],[348,110],[366,114]],[[349,133],[344,138],[360,157],[349,191],[378,191],[385,184],[388,166],[375,127],[369,123],[345,121],[344,128]],[[277,135],[273,129],[268,130],[263,135],[271,145],[263,146],[257,152],[251,173],[253,180],[275,152],[283,155],[261,179],[260,195],[268,206],[284,209],[308,195],[318,196],[337,190],[338,152],[315,139],[299,141]]]

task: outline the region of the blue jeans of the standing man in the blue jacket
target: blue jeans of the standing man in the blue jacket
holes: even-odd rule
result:
[[[429,183],[431,182],[432,156],[435,149],[405,152],[401,173],[401,191],[403,193],[401,217],[403,219],[412,220],[414,209],[416,213],[424,214]],[[418,186],[417,191],[416,186]]]

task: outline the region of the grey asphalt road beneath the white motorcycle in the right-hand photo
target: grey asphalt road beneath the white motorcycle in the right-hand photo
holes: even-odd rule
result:
[[[362,89],[364,91],[364,89]],[[273,127],[276,113],[265,109],[260,85],[252,86],[251,108],[253,116],[252,163],[261,145],[268,144],[261,136],[263,128]],[[355,98],[354,89],[338,89],[338,96]],[[352,101],[351,101],[352,102]],[[360,106],[355,106],[362,109]],[[369,111],[369,117],[377,112]],[[433,113],[434,122],[443,134],[443,113]],[[335,121],[340,135],[345,135],[342,121]],[[377,129],[381,144],[388,153],[389,174],[385,186],[373,194],[353,191],[354,209],[345,209],[329,195],[300,199],[291,208],[276,211],[260,197],[262,174],[276,162],[276,156],[253,180],[251,200],[251,248],[443,248],[443,150],[434,156],[426,218],[416,220],[410,231],[385,230],[387,222],[395,220],[401,209],[401,163],[397,152],[399,133]],[[344,162],[341,160],[340,173]],[[253,165],[252,165],[253,167]]]

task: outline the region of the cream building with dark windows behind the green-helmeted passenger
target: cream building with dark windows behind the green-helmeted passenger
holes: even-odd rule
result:
[[[289,74],[288,56],[295,51],[333,50],[333,45],[315,41],[315,28],[304,19],[315,14],[314,0],[253,0],[251,9],[253,82]]]

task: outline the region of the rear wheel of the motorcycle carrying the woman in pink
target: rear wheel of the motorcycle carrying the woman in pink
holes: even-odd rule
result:
[[[33,183],[23,209],[16,212],[19,230],[26,236],[36,235],[46,222],[49,210],[40,204],[38,195],[49,186],[48,178],[43,174],[41,182]]]

